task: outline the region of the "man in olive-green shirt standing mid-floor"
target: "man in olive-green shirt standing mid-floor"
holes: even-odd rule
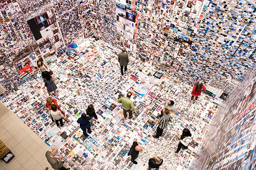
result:
[[[132,96],[131,92],[128,92],[125,97],[121,97],[117,100],[118,103],[122,103],[122,108],[124,110],[124,119],[127,118],[127,112],[129,113],[129,119],[132,119],[132,111],[134,110],[133,102],[130,100]]]

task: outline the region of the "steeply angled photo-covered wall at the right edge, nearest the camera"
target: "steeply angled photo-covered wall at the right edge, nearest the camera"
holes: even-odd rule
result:
[[[192,163],[192,170],[256,167],[256,69],[219,106]]]

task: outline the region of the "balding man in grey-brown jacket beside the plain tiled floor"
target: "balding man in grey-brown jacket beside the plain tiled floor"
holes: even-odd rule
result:
[[[54,170],[70,170],[70,168],[65,168],[63,166],[64,161],[62,162],[61,159],[63,159],[63,156],[58,156],[58,149],[53,149],[52,152],[51,151],[47,151],[45,153],[45,157],[47,159],[47,161],[50,163],[50,165],[52,166],[52,168]]]

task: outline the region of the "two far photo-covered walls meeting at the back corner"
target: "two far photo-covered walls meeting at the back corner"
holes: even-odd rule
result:
[[[0,60],[60,55],[97,36],[182,82],[229,93],[255,63],[255,12],[254,0],[1,0]]]

